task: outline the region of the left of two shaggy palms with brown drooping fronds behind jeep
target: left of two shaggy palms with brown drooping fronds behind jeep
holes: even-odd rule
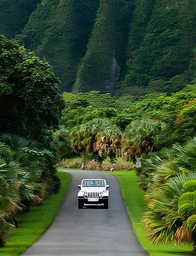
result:
[[[99,159],[103,155],[115,157],[120,154],[121,130],[107,119],[95,118],[71,132],[71,144],[76,152],[95,152]]]

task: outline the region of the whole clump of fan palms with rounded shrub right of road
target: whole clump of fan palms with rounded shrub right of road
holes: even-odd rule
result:
[[[151,174],[143,221],[154,244],[192,241],[196,250],[196,139],[189,139],[183,146],[174,145],[173,149],[175,154],[159,161]]]

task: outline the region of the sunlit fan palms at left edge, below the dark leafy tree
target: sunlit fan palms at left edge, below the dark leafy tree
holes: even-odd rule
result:
[[[18,224],[16,214],[34,204],[36,197],[44,194],[45,189],[38,163],[18,150],[29,141],[6,136],[14,151],[0,142],[0,246],[5,244],[13,224]]]

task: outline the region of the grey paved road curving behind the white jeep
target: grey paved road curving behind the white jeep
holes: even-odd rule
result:
[[[65,170],[63,170],[65,171]],[[68,171],[69,191],[51,227],[23,255],[30,256],[146,256],[139,245],[123,203],[118,179],[93,171]],[[110,184],[109,209],[78,209],[77,186],[82,179],[101,178]]]

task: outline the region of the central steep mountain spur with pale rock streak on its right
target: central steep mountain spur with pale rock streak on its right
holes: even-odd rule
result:
[[[74,93],[99,90],[113,94],[126,54],[133,3],[100,1],[87,53],[78,66]]]

